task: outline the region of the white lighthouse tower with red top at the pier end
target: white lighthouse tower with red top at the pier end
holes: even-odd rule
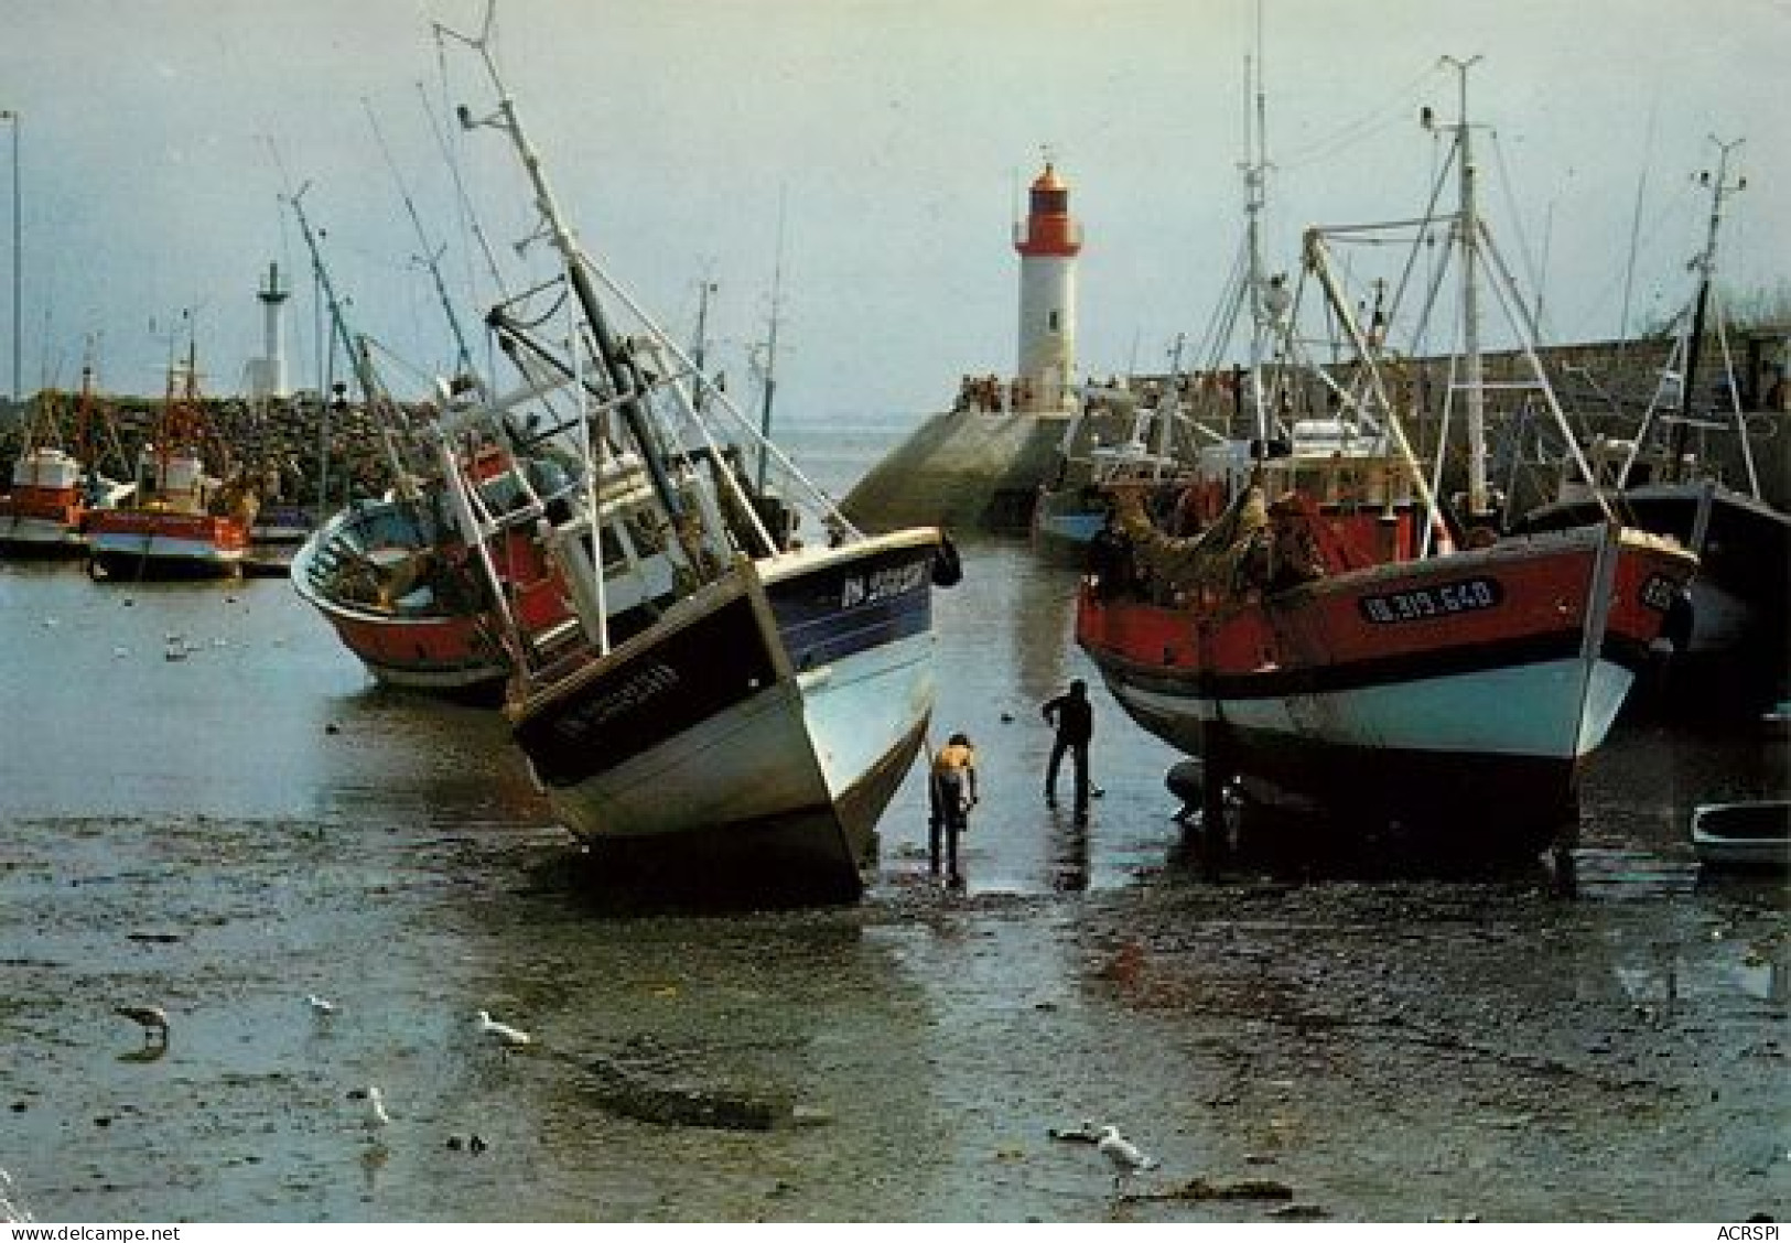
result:
[[[1082,226],[1069,215],[1069,186],[1046,159],[1032,183],[1026,219],[1014,226],[1019,251],[1019,365],[1015,410],[1075,407],[1076,254]]]

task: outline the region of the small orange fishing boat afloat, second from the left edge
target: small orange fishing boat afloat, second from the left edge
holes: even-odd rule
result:
[[[88,519],[90,564],[113,580],[236,577],[254,512],[254,489],[229,469],[199,401],[190,342],[184,365],[168,367],[167,401],[138,450],[134,494]]]

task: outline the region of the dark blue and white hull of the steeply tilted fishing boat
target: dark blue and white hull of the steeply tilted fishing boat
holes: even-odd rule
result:
[[[561,820],[686,879],[851,899],[933,702],[935,539],[741,562],[512,707]],[[747,867],[750,865],[750,867]]]

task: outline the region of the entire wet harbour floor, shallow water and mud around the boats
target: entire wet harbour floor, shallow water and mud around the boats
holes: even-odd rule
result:
[[[861,904],[736,913],[618,908],[489,713],[369,690],[287,584],[93,605],[79,577],[0,575],[0,675],[50,722],[0,749],[14,1204],[45,1222],[1791,1211],[1784,885],[1703,876],[1684,845],[1685,804],[1737,792],[1732,749],[1614,740],[1576,897],[1540,867],[1211,883],[1180,860],[1173,756],[1100,691],[1107,797],[1085,831],[1042,808],[1037,704],[1085,666],[1062,580],[1023,555],[998,570],[942,605],[938,729],[985,756],[967,890],[928,876],[910,781]],[[190,659],[163,661],[170,629]],[[167,1008],[165,1051],[120,1003]],[[478,1008],[534,1044],[480,1046]],[[367,1085],[385,1127],[349,1096]],[[1116,1196],[1089,1144],[1051,1137],[1084,1119],[1161,1166]]]

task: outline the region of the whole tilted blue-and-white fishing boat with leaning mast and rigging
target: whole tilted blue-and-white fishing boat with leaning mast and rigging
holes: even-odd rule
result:
[[[926,736],[931,591],[956,579],[955,557],[931,527],[860,532],[761,435],[580,247],[491,56],[489,14],[476,38],[444,34],[498,97],[485,118],[462,107],[462,127],[509,140],[559,267],[487,315],[523,371],[516,394],[433,423],[505,623],[512,738],[561,822],[618,872],[856,897]],[[571,322],[541,335],[532,301]],[[500,475],[469,469],[487,444],[505,450]],[[528,478],[544,453],[568,462],[570,487]],[[559,570],[568,620],[505,607],[496,561],[514,537]]]

